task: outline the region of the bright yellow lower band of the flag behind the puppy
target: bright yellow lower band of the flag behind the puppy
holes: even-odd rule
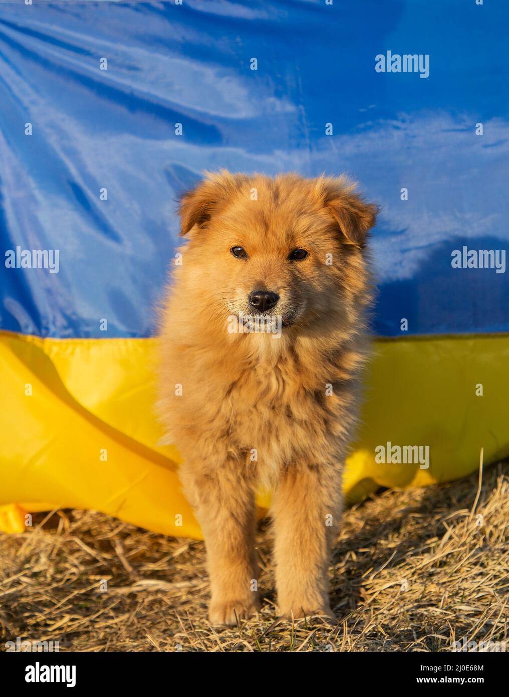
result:
[[[22,529],[24,510],[76,507],[201,536],[180,491],[178,452],[158,445],[155,346],[0,332],[0,529]],[[480,447],[486,462],[508,456],[508,335],[380,339],[375,350],[347,498],[468,475]],[[429,445],[430,467],[378,464],[375,448],[387,441]]]

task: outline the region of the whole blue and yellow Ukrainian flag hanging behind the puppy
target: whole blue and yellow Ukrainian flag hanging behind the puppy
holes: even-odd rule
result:
[[[203,169],[345,171],[382,205],[351,500],[508,456],[509,6],[445,6],[0,6],[4,529],[78,507],[200,536],[152,405],[174,200]]]

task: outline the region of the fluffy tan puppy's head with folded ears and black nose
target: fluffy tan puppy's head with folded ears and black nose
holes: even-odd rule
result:
[[[345,321],[368,284],[377,212],[354,188],[343,176],[207,174],[180,204],[195,302],[210,318],[278,317],[294,330]]]

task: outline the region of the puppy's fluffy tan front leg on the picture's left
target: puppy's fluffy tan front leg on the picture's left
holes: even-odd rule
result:
[[[210,622],[235,625],[259,607],[252,482],[244,463],[233,459],[207,468],[187,462],[180,477],[205,537]]]

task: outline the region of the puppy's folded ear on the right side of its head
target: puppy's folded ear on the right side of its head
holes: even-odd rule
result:
[[[362,248],[366,245],[368,230],[375,224],[379,208],[356,194],[356,186],[345,176],[321,177],[317,181],[322,203],[337,222],[345,243]]]

